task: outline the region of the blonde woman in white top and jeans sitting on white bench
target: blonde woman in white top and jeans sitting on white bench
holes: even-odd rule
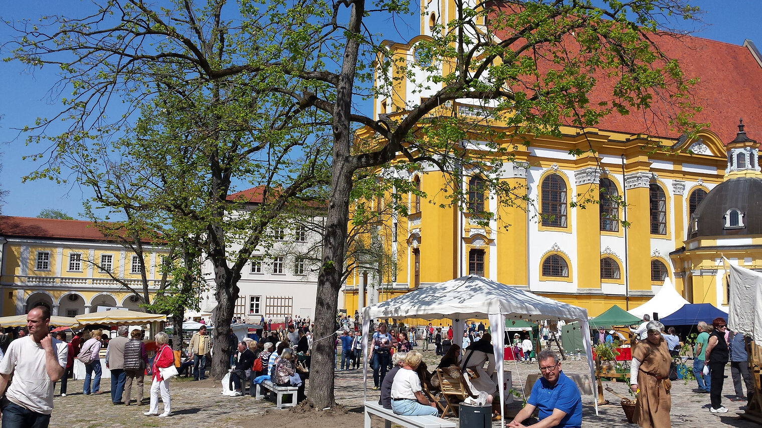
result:
[[[415,369],[421,364],[423,355],[416,350],[411,350],[405,356],[402,368],[394,376],[392,382],[392,411],[395,414],[405,416],[437,416],[437,404],[429,401],[424,396],[421,388],[421,379]]]

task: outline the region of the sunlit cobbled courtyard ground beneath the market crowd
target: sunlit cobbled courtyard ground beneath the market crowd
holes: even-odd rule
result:
[[[427,362],[434,363],[438,358],[433,351],[424,353]],[[539,372],[536,364],[520,364],[514,366],[514,388],[520,390],[519,377],[526,379],[530,373]],[[434,366],[436,364],[434,363]],[[587,372],[587,363],[584,361],[566,361],[562,364],[567,373]],[[372,372],[370,386],[373,386]],[[725,379],[724,394],[732,393],[732,380],[728,367]],[[604,385],[606,387],[607,385]],[[608,386],[620,394],[626,394],[626,385],[623,383],[609,383]],[[101,382],[100,395],[82,395],[82,381],[69,382],[69,393],[66,397],[55,398],[56,409],[53,410],[53,419],[50,426],[56,428],[106,428],[106,427],[142,427],[142,426],[166,426],[166,427],[198,427],[198,426],[226,426],[228,428],[244,427],[267,423],[268,426],[294,426],[295,428],[327,428],[337,426],[341,428],[354,428],[363,425],[363,375],[362,370],[350,370],[338,372],[336,377],[336,398],[339,406],[326,412],[297,407],[291,410],[277,410],[270,401],[256,401],[245,395],[243,397],[226,397],[220,394],[222,386],[219,382],[206,380],[203,382],[189,382],[187,379],[173,379],[170,385],[172,417],[158,418],[145,417],[143,412],[148,410],[149,382],[146,379],[145,394],[146,405],[142,406],[114,406],[110,402],[110,379],[104,378]],[[309,388],[309,384],[308,384]],[[735,426],[739,428],[757,427],[755,423],[738,416],[741,405],[728,399],[723,399],[723,405],[730,409],[725,415],[717,416],[709,413],[709,394],[698,394],[693,390],[696,382],[686,385],[684,381],[672,383],[672,426],[693,428],[696,426]],[[56,392],[58,388],[56,388]],[[134,396],[134,394],[133,394]],[[612,404],[601,406],[599,416],[594,413],[594,396],[584,395],[584,417],[582,426],[600,428],[636,427],[627,423],[624,417],[620,399],[613,394],[604,391],[604,396]],[[378,391],[368,390],[368,399],[378,400]],[[517,401],[516,406],[520,401]],[[161,406],[161,403],[159,404]],[[518,407],[515,407],[518,408]],[[380,420],[373,420],[373,428],[383,426]],[[493,423],[493,426],[500,426]]]

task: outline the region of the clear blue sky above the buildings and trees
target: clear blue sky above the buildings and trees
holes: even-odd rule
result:
[[[760,0],[700,0],[692,3],[706,11],[703,15],[704,24],[689,28],[696,30],[694,35],[738,45],[744,39],[750,39],[762,50],[762,27],[758,22],[762,17]],[[71,15],[71,10],[75,10],[77,5],[78,2],[68,0],[3,2],[0,17],[4,21],[14,21],[39,18],[43,14],[60,13],[63,10]],[[398,25],[399,30],[395,30],[390,22],[369,24],[379,32],[386,31],[384,37],[387,39],[406,41],[403,39],[417,34],[414,32],[418,31],[418,19],[418,16],[409,18],[409,28]],[[0,46],[8,39],[8,34],[7,28],[0,28]],[[8,56],[8,51],[0,47],[0,56]],[[68,93],[50,92],[55,82],[55,73],[54,67],[46,67],[30,74],[18,62],[0,62],[0,188],[8,191],[2,206],[2,213],[6,216],[34,217],[41,209],[54,208],[78,218],[78,213],[82,212],[82,201],[88,197],[87,190],[76,184],[59,185],[46,180],[21,182],[24,174],[40,166],[39,163],[24,161],[22,157],[38,152],[40,148],[26,146],[23,138],[17,138],[18,131],[14,128],[34,123],[37,117],[50,117],[59,112],[60,98]],[[370,101],[367,103],[370,105]]]

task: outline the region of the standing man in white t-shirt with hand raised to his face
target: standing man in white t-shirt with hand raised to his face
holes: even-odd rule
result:
[[[53,385],[66,369],[66,343],[50,336],[50,308],[37,306],[27,314],[29,334],[8,346],[0,363],[2,425],[46,428],[53,413]],[[8,386],[14,375],[14,382]],[[7,391],[6,391],[7,388]]]

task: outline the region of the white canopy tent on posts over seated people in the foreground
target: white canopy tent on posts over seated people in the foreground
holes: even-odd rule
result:
[[[463,331],[463,324],[468,318],[487,318],[492,327],[492,347],[495,352],[498,385],[503,385],[504,382],[503,337],[506,319],[527,319],[534,322],[546,319],[579,321],[591,379],[595,378],[587,309],[556,302],[482,276],[469,275],[433,286],[421,286],[405,295],[364,308],[363,349],[366,361],[370,352],[367,343],[370,320],[376,318],[450,318],[453,321],[453,330],[456,332]],[[368,365],[364,364],[365,391],[367,391],[367,375]],[[505,402],[502,388],[500,388],[500,402]],[[598,412],[597,400],[595,412],[596,414]],[[504,416],[503,414],[501,426],[505,426]]]

